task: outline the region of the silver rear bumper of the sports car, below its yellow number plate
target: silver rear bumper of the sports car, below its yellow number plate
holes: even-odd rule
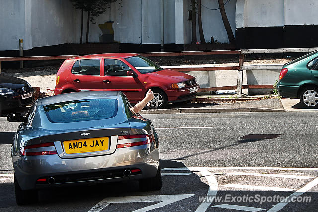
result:
[[[155,148],[149,151],[148,145],[116,149],[110,155],[83,158],[13,156],[14,173],[23,190],[151,178],[157,173],[159,150]],[[141,172],[126,177],[123,174],[126,169],[140,169]],[[37,183],[40,178],[50,177],[56,179],[54,184]]]

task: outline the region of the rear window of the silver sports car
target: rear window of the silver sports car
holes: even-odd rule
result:
[[[117,99],[87,99],[44,106],[52,123],[72,123],[112,118],[117,115]]]

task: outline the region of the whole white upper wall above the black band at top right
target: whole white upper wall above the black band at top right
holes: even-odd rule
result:
[[[236,28],[317,25],[317,0],[237,0]]]

